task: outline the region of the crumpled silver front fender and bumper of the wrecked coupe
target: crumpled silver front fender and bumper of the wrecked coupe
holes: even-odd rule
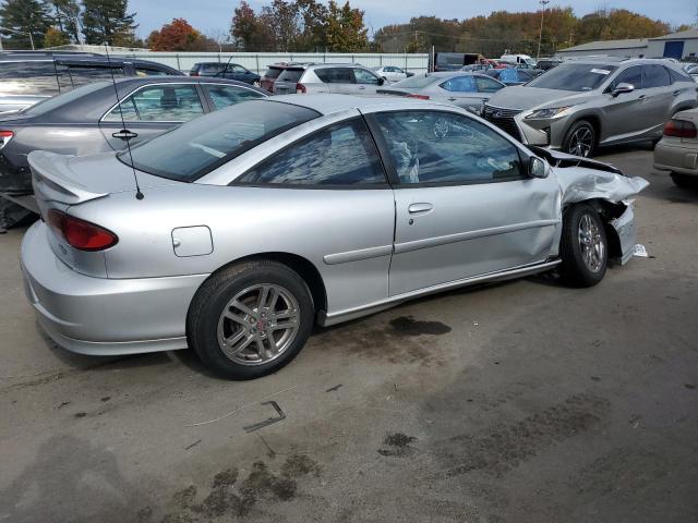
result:
[[[591,205],[603,219],[610,259],[625,265],[633,257],[637,240],[633,196],[649,182],[627,177],[610,163],[539,147],[532,149],[547,160],[556,174],[563,214],[574,204]]]

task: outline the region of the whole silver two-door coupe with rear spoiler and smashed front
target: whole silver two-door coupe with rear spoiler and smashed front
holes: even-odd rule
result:
[[[238,379],[289,363],[315,321],[551,269],[593,285],[631,256],[647,185],[454,106],[344,95],[29,165],[22,267],[47,333],[95,355],[191,346]]]

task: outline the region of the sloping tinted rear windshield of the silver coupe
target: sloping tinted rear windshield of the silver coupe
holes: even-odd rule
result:
[[[133,147],[133,167],[193,182],[257,144],[317,117],[312,109],[290,104],[245,101]],[[128,151],[119,153],[118,158],[130,165]]]

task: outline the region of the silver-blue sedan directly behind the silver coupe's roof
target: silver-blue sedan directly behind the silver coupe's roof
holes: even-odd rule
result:
[[[470,109],[478,114],[493,93],[506,87],[501,82],[473,73],[428,73],[378,89],[380,95],[407,96]]]

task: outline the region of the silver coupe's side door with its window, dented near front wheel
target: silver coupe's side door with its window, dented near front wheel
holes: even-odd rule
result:
[[[554,178],[493,127],[436,110],[378,112],[394,177],[392,296],[546,259],[559,223]]]

